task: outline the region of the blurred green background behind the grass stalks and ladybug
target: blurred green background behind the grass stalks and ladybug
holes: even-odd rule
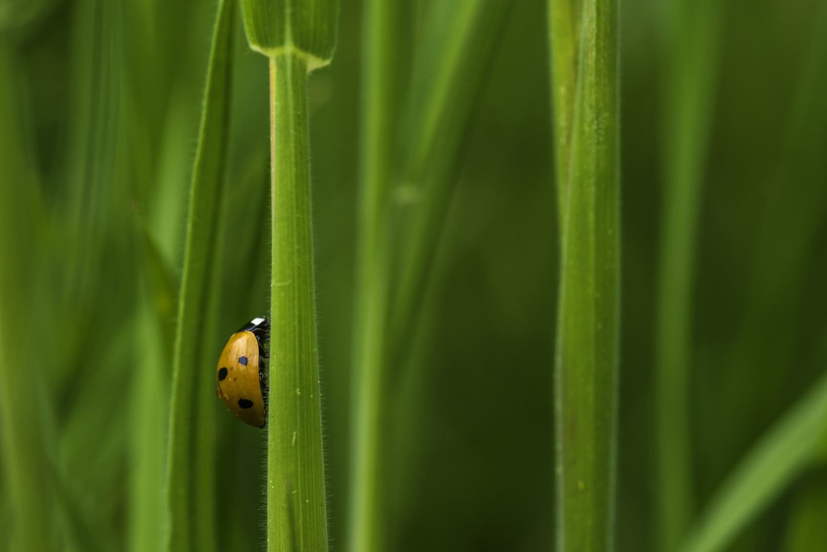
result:
[[[39,512],[48,550],[159,550],[144,528],[163,523],[162,486],[144,483],[165,462],[213,4],[0,2],[2,262],[26,259],[22,279],[0,265],[0,550],[14,550],[21,507]],[[658,9],[657,0],[621,2],[624,551],[654,550]],[[827,366],[825,12],[823,0],[724,2],[687,390],[700,506]],[[553,546],[557,206],[546,21],[546,2],[510,2],[462,148],[411,336],[410,362],[422,369],[403,373],[413,375],[392,405],[391,550]],[[267,59],[239,31],[217,221],[222,312],[219,335],[204,336],[216,358],[232,331],[269,310]],[[333,550],[347,536],[360,48],[360,2],[342,0],[335,59],[309,83]],[[262,550],[265,432],[218,399],[215,416],[218,550]],[[827,512],[823,466],[729,550],[827,549],[827,524],[804,545],[792,537],[810,503]]]

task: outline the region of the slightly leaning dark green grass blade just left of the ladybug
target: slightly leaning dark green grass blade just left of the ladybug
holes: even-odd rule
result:
[[[213,386],[215,250],[232,90],[235,4],[218,3],[204,92],[201,130],[189,194],[184,274],[173,357],[172,410],[167,467],[167,550],[213,550]],[[207,395],[210,402],[203,395]]]

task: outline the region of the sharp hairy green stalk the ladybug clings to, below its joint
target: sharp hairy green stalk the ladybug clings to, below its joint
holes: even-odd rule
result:
[[[308,64],[270,58],[273,272],[267,419],[267,550],[327,550],[319,398]]]

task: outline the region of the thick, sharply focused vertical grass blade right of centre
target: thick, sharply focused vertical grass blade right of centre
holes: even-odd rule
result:
[[[618,7],[614,0],[551,0],[552,64],[577,51],[576,80],[555,82],[562,201],[561,284],[555,362],[557,550],[614,547],[619,348]],[[558,27],[578,17],[579,35]],[[557,44],[576,40],[577,44]],[[566,72],[562,72],[566,78]],[[571,74],[569,74],[571,78]],[[574,90],[574,113],[560,90]],[[558,122],[557,129],[561,125]],[[561,142],[562,140],[562,142]],[[566,157],[567,156],[567,157]]]

